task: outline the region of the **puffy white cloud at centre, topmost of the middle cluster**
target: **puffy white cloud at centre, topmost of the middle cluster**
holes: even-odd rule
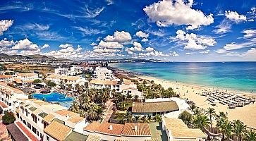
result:
[[[132,37],[130,36],[129,32],[125,32],[125,31],[116,31],[114,32],[114,35],[107,35],[104,40],[107,42],[127,42],[130,41],[132,39]]]

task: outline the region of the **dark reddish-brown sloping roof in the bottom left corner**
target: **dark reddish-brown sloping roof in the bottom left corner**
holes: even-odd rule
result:
[[[14,140],[28,140],[28,138],[20,131],[20,129],[16,126],[15,123],[6,125],[7,130],[11,133]]]

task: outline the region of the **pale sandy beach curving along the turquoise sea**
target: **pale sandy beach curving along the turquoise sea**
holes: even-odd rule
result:
[[[180,94],[181,98],[188,98],[195,102],[197,106],[203,109],[207,109],[208,107],[213,107],[217,114],[219,111],[224,111],[228,113],[228,119],[233,121],[234,119],[240,119],[243,121],[248,127],[256,128],[256,104],[249,104],[243,107],[236,107],[236,109],[228,109],[226,105],[222,105],[217,103],[216,106],[211,106],[207,101],[207,97],[201,96],[198,93],[202,93],[204,91],[216,90],[217,87],[204,87],[200,85],[188,85],[182,82],[172,82],[168,80],[161,80],[158,78],[139,75],[138,78],[146,79],[146,80],[154,80],[155,83],[161,84],[165,89],[168,87],[173,87],[173,90]],[[219,89],[218,89],[219,90]],[[188,92],[187,92],[188,91]],[[226,90],[221,90],[221,92],[226,92]],[[247,97],[254,96],[251,93],[247,92],[237,92],[237,91],[227,91],[234,94],[239,94],[240,96],[246,95]]]

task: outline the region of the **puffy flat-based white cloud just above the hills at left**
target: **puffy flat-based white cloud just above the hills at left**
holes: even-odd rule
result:
[[[30,42],[30,40],[23,39],[18,41],[18,43],[12,47],[13,50],[32,50],[35,51],[38,49],[37,44],[33,44],[32,42]]]

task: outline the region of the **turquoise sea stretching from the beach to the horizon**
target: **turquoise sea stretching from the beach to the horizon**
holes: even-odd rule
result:
[[[164,80],[256,93],[256,62],[146,62],[110,63],[109,66]]]

